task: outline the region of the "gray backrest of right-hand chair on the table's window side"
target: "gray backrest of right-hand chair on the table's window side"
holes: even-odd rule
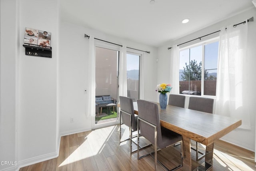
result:
[[[188,109],[212,113],[213,103],[214,103],[214,99],[211,99],[211,98],[190,97]]]

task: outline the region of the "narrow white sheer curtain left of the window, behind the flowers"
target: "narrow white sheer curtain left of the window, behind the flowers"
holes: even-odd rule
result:
[[[171,49],[171,68],[170,68],[170,84],[172,85],[171,94],[180,93],[179,66],[180,66],[179,47],[173,45]]]

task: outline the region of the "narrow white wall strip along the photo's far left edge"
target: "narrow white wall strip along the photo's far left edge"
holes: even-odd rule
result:
[[[14,162],[17,161],[16,65],[19,44],[16,10],[15,0],[0,1],[0,161],[14,164],[0,165],[0,170],[15,169]]]

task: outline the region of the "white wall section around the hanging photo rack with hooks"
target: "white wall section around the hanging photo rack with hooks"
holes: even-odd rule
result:
[[[22,0],[19,18],[19,127],[20,166],[58,155],[57,59],[58,0]],[[52,58],[25,55],[25,28],[51,32]]]

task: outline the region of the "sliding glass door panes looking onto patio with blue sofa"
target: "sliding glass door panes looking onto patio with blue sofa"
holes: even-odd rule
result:
[[[95,124],[94,129],[119,123],[118,103],[118,68],[119,48],[95,47]],[[126,54],[127,96],[137,101],[140,97],[140,54]]]

